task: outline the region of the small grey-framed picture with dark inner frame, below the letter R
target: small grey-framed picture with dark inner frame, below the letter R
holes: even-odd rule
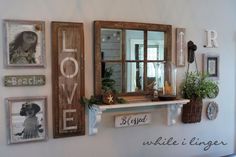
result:
[[[203,70],[212,79],[219,79],[219,56],[218,55],[203,55],[204,67]]]

